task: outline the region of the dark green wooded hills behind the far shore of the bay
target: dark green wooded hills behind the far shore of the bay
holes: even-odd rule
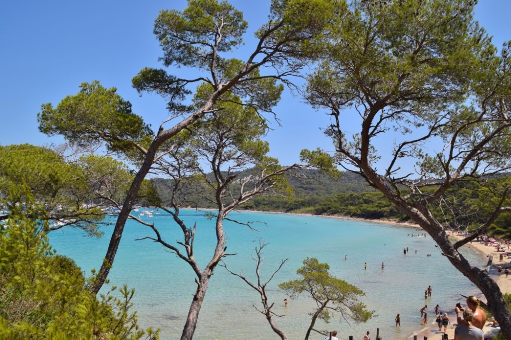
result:
[[[250,170],[241,172],[240,178],[251,173]],[[489,182],[505,183],[511,177],[487,178]],[[241,207],[246,210],[268,212],[303,213],[313,215],[341,215],[363,219],[388,219],[406,222],[408,217],[403,215],[396,206],[391,204],[382,193],[369,187],[359,175],[345,172],[339,178],[332,178],[317,170],[295,170],[287,175],[287,180],[293,190],[290,197],[267,195],[255,197]],[[168,204],[171,198],[172,180],[153,178],[163,204]],[[236,184],[231,187],[233,194],[238,190]],[[424,192],[433,193],[435,187],[425,188]],[[443,221],[446,227],[454,229],[476,228],[484,223],[492,213],[493,206],[498,202],[489,199],[488,190],[477,182],[467,182],[453,187],[444,193],[442,203],[429,206],[431,213]],[[188,194],[189,206],[215,208],[204,193],[207,188],[195,190]],[[210,192],[211,194],[211,192]],[[226,199],[226,202],[228,198]],[[502,203],[501,203],[502,204]],[[508,226],[511,225],[511,215],[503,214],[490,226],[490,232],[495,236],[511,237]]]

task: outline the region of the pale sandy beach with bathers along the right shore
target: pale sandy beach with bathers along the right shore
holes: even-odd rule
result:
[[[462,237],[455,234],[455,235],[453,235],[453,238],[461,239]],[[493,245],[485,246],[484,244],[482,244],[480,242],[472,242],[467,245],[464,245],[464,247],[472,247],[472,248],[478,250],[479,252],[481,252],[482,254],[486,255],[487,259],[489,260],[488,263],[490,263],[490,259],[491,259],[491,266],[490,266],[490,271],[489,271],[490,276],[497,282],[497,284],[500,287],[500,291],[502,293],[511,293],[511,276],[506,278],[504,275],[504,272],[502,272],[502,274],[499,277],[499,273],[497,271],[497,267],[499,265],[502,265],[502,268],[505,268],[506,265],[511,268],[511,265],[509,264],[509,259],[507,258],[507,256],[504,256],[503,261],[500,261],[499,260],[500,253],[495,252],[495,246],[493,246]],[[486,263],[481,264],[481,266],[484,266],[484,265],[486,265]],[[455,270],[455,269],[453,268],[453,270]],[[462,292],[460,292],[460,294],[462,294]],[[482,293],[481,293],[481,296],[479,296],[479,299],[481,299],[481,301],[483,301],[483,302],[486,302],[486,299],[484,298]],[[464,307],[467,306],[466,304],[462,304],[462,305]],[[417,333],[417,339],[423,340],[424,336],[427,336],[428,340],[442,339],[443,331],[442,332],[437,331],[438,328],[437,328],[437,324],[434,320],[434,312],[429,311],[428,316],[430,316],[430,319],[432,319],[432,321],[430,321],[431,322],[430,327],[429,327],[429,329],[426,329],[420,333]],[[454,328],[456,328],[456,326],[453,325],[456,323],[456,315],[454,312],[449,313],[449,319],[451,321],[451,325],[447,326],[447,334],[449,335],[449,339],[454,339]],[[490,321],[491,320],[488,319],[486,324],[488,324]],[[436,332],[434,330],[436,330]],[[487,327],[487,326],[484,327],[483,331],[484,331],[484,336],[496,335],[498,332],[497,329],[492,328],[492,327]]]

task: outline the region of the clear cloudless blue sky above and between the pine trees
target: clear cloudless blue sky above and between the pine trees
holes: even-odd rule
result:
[[[233,0],[249,23],[247,46],[238,58],[245,59],[253,32],[266,21],[269,0]],[[82,82],[99,80],[117,87],[133,111],[157,129],[165,120],[165,102],[156,95],[138,96],[131,79],[143,67],[161,67],[162,55],[153,35],[153,23],[162,9],[185,8],[184,0],[89,0],[10,1],[0,11],[0,145],[31,143],[48,145],[62,139],[49,138],[37,129],[36,115],[42,103],[56,105],[64,96],[76,94]],[[479,0],[476,19],[494,36],[500,47],[511,39],[511,0]],[[285,93],[276,108],[282,127],[268,135],[272,156],[282,164],[298,162],[301,149],[331,142],[319,128],[327,117],[314,112],[299,98]]]

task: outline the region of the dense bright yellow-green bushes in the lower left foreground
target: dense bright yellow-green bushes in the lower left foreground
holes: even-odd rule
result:
[[[138,326],[133,290],[90,294],[80,268],[50,247],[48,222],[28,217],[44,216],[42,207],[23,196],[24,208],[0,226],[0,338],[158,339],[159,331]]]

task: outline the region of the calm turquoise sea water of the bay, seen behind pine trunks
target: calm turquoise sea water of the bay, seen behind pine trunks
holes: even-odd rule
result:
[[[181,217],[192,225],[197,222],[195,255],[200,265],[212,256],[215,244],[214,221],[203,217],[202,212],[184,210]],[[406,339],[424,328],[419,310],[428,305],[428,319],[434,323],[433,309],[436,304],[442,310],[452,312],[460,294],[476,294],[476,287],[461,275],[442,256],[428,236],[411,237],[419,233],[411,228],[387,224],[343,220],[324,217],[296,216],[265,213],[235,213],[229,215],[240,221],[259,221],[254,224],[258,231],[225,221],[227,252],[235,253],[225,261],[230,270],[243,271],[243,275],[255,279],[254,249],[262,238],[268,243],[264,249],[263,279],[289,258],[282,270],[275,275],[268,287],[269,299],[275,302],[274,311],[285,315],[275,318],[277,326],[290,339],[300,339],[310,323],[308,312],[312,302],[305,296],[290,300],[284,307],[285,294],[277,284],[296,278],[296,269],[306,257],[316,257],[330,265],[336,277],[358,286],[366,296],[363,302],[377,316],[363,324],[348,324],[340,316],[324,325],[316,323],[316,329],[336,329],[340,339],[353,335],[362,338],[370,330],[376,338],[380,328],[383,339]],[[168,216],[154,215],[146,218],[159,228],[169,243],[182,239],[178,229]],[[51,244],[58,253],[73,258],[85,273],[98,268],[106,252],[112,226],[104,227],[102,239],[83,237],[80,231],[52,232]],[[195,276],[192,270],[162,247],[150,240],[135,241],[153,236],[152,231],[136,222],[129,221],[114,265],[110,271],[110,284],[128,284],[135,289],[134,308],[143,327],[161,328],[161,339],[179,338],[188,314],[192,295],[195,293]],[[409,253],[404,255],[403,248]],[[415,254],[415,250],[417,253]],[[431,256],[426,256],[430,253]],[[348,256],[344,260],[344,255]],[[475,251],[466,256],[484,265],[484,259]],[[364,270],[364,262],[368,264]],[[385,269],[381,269],[381,263]],[[424,300],[427,286],[433,288],[432,297]],[[289,298],[288,298],[289,300]],[[194,339],[277,339],[262,314],[252,305],[260,307],[259,294],[246,283],[218,267],[210,281]],[[395,327],[394,318],[401,314],[401,327]],[[311,339],[323,339],[313,334]]]

